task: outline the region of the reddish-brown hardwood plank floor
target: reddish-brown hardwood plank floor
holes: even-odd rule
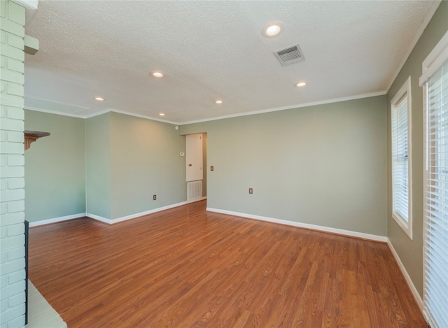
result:
[[[384,243],[207,213],[29,231],[29,278],[75,327],[428,327]]]

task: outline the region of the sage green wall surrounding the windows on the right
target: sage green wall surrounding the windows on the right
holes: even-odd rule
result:
[[[388,161],[388,238],[423,297],[423,90],[421,63],[448,30],[448,1],[442,1],[387,94],[388,154],[391,153],[391,100],[411,76],[412,96],[412,233],[411,240],[392,218],[391,161]]]

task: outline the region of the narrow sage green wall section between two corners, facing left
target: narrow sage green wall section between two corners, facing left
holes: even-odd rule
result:
[[[111,218],[111,113],[85,120],[86,212]]]

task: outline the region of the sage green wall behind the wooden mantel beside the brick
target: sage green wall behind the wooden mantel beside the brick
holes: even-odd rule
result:
[[[27,220],[85,213],[84,120],[25,110],[25,129],[50,132],[25,152]]]

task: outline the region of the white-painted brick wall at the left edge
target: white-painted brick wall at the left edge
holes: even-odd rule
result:
[[[25,8],[0,0],[0,327],[25,326]]]

